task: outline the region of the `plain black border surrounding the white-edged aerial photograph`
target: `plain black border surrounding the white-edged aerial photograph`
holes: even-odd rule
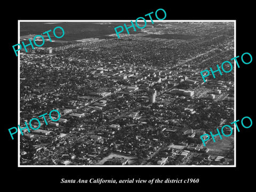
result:
[[[22,4],[22,3],[19,3]],[[6,17],[1,13],[3,21],[2,37],[4,45],[2,57],[3,72],[2,75],[2,102],[4,103],[3,115],[3,156],[5,164],[2,165],[5,171],[4,184],[12,186],[12,183],[19,187],[33,189],[34,187],[51,189],[51,188],[81,188],[86,190],[87,187],[93,188],[127,188],[127,187],[156,187],[173,190],[174,188],[183,189],[197,188],[202,186],[203,190],[210,188],[222,189],[233,188],[240,185],[246,187],[252,186],[253,178],[249,175],[253,167],[254,156],[254,127],[255,115],[252,112],[254,101],[254,62],[255,62],[255,32],[253,20],[253,4],[242,2],[239,5],[218,2],[204,2],[203,4],[190,2],[180,2],[179,4],[166,3],[146,3],[138,5],[131,2],[114,2],[103,5],[86,4],[86,2],[62,2],[59,5],[53,5],[51,2],[26,2],[22,5],[12,7],[11,17]],[[143,3],[142,3],[143,4]],[[147,5],[147,6],[145,6]],[[147,13],[162,8],[166,11],[165,20],[236,20],[236,55],[242,55],[244,52],[252,54],[253,61],[250,65],[241,65],[236,72],[236,119],[242,119],[249,116],[253,119],[253,125],[250,129],[241,129],[237,133],[236,142],[236,160],[237,167],[18,167],[18,138],[11,140],[7,131],[10,127],[18,125],[18,57],[13,53],[12,45],[18,42],[18,20],[121,20],[137,19]],[[216,63],[218,64],[218,63]],[[122,185],[98,185],[98,184],[61,184],[61,178],[66,179],[187,179],[199,178],[197,184],[122,184]],[[51,187],[51,188],[49,188]],[[37,189],[34,188],[34,189]],[[202,189],[202,188],[201,188]]]

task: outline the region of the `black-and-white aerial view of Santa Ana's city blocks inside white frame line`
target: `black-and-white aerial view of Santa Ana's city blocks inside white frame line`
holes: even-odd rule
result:
[[[234,134],[200,138],[235,121],[234,70],[200,74],[234,57],[234,21],[156,21],[117,38],[123,23],[20,22],[27,44],[65,30],[20,51],[20,126],[61,114],[23,130],[20,165],[234,165]]]

